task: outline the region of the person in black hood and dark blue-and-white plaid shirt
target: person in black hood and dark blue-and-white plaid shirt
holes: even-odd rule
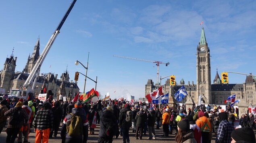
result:
[[[215,143],[230,143],[231,133],[234,130],[233,125],[227,120],[227,113],[219,113],[220,125],[216,136]]]

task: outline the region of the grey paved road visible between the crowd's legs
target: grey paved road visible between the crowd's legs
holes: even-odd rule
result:
[[[98,132],[99,132],[99,124],[97,124],[97,128],[95,129],[95,135],[89,135],[87,143],[97,143],[98,141]],[[143,136],[142,140],[136,140],[135,139],[135,133],[132,133],[132,130],[130,129],[129,135],[130,135],[130,143],[175,143],[175,135],[169,135],[168,138],[161,137],[163,133],[162,128],[156,129],[156,139],[155,140],[148,140],[148,135]],[[175,133],[175,132],[174,132]],[[4,131],[0,134],[0,143],[5,143],[6,139],[6,132]],[[214,138],[215,139],[215,138]],[[29,141],[30,143],[35,142],[35,133],[32,131],[29,134]],[[17,140],[16,140],[17,142]],[[49,139],[49,143],[61,143],[60,139],[60,131],[58,132],[57,137],[52,137]],[[113,143],[123,143],[122,137],[118,137],[117,139],[114,139]],[[212,143],[215,143],[215,141],[212,141]]]

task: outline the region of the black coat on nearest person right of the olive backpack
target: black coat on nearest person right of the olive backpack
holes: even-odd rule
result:
[[[114,116],[113,111],[105,109],[102,111],[101,103],[98,104],[97,107],[98,113],[100,115],[100,137],[108,137],[106,135],[106,126],[108,122],[111,122],[111,131],[110,131],[110,137],[116,135],[118,131],[117,127],[117,118]]]

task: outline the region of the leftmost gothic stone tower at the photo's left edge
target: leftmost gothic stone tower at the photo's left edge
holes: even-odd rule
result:
[[[13,57],[13,51],[10,58],[6,58],[4,63],[4,69],[1,72],[0,87],[5,89],[5,92],[10,90],[10,81],[15,75],[17,57]]]

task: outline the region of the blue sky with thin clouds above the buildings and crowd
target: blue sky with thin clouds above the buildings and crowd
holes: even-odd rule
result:
[[[2,66],[12,47],[17,71],[22,71],[40,35],[40,53],[72,0],[2,1],[0,47]],[[113,55],[170,62],[160,65],[159,77],[175,75],[196,84],[196,46],[203,26],[211,55],[211,81],[233,71],[256,75],[256,1],[254,0],[77,0],[60,30],[41,73],[68,71],[98,77],[97,91],[111,98],[144,97],[148,79],[156,83],[156,65]],[[51,68],[49,68],[51,65]],[[3,67],[0,67],[2,69]],[[229,74],[229,83],[243,83],[245,75]],[[166,79],[162,80],[164,83]],[[83,91],[84,77],[78,86]],[[95,87],[87,80],[86,91]],[[114,93],[114,91],[116,91]]]

